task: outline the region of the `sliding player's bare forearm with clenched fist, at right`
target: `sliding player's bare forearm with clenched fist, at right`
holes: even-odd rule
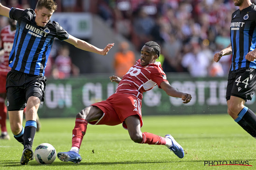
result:
[[[183,103],[188,103],[192,99],[190,94],[178,91],[176,88],[172,87],[168,82],[164,81],[160,84],[161,88],[166,92],[167,95],[171,97],[181,98]]]

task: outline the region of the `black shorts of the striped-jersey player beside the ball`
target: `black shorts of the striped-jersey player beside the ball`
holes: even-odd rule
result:
[[[8,111],[21,111],[26,107],[30,96],[38,97],[44,102],[45,76],[27,74],[11,70],[6,78],[6,95]]]

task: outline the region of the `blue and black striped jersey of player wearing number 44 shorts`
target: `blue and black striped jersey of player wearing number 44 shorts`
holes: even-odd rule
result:
[[[232,46],[232,63],[230,71],[244,67],[256,68],[255,61],[245,59],[245,55],[253,51],[256,45],[256,5],[232,14],[230,24],[230,40]]]

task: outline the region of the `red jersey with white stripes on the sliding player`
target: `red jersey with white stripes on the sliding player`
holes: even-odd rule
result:
[[[144,91],[152,89],[155,85],[161,88],[160,84],[163,81],[167,80],[160,62],[141,66],[140,60],[138,60],[124,75],[118,84],[116,93],[129,94],[142,99]]]

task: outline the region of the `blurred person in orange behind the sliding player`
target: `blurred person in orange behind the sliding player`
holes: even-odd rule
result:
[[[115,75],[122,78],[135,62],[135,55],[129,50],[129,44],[125,41],[120,43],[119,51],[114,57]]]

